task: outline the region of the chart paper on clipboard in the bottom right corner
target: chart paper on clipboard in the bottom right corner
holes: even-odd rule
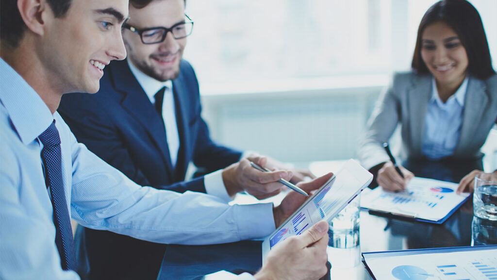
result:
[[[382,280],[497,280],[497,248],[365,259]]]

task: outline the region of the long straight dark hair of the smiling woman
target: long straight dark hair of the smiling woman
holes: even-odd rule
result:
[[[476,8],[466,0],[441,0],[433,4],[423,15],[417,29],[412,67],[417,73],[429,73],[421,58],[421,40],[426,26],[443,21],[459,36],[468,55],[468,73],[486,80],[496,72],[492,68],[489,43],[482,19]]]

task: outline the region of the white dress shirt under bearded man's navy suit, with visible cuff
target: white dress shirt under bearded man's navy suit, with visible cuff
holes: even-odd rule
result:
[[[167,147],[169,148],[169,155],[171,157],[171,163],[174,168],[174,166],[176,166],[176,161],[178,158],[180,143],[176,121],[176,107],[174,106],[174,94],[172,92],[172,82],[170,80],[166,82],[158,81],[136,68],[129,59],[127,60],[127,62],[131,73],[133,73],[136,80],[142,87],[143,91],[147,94],[152,104],[155,104],[154,95],[160,89],[166,87],[166,92],[164,93],[164,101],[162,104],[162,117],[166,126]],[[224,185],[221,171],[213,172],[204,176],[204,186],[207,193],[218,196],[226,202],[231,200],[231,197],[228,195],[228,191],[226,190],[226,187]]]

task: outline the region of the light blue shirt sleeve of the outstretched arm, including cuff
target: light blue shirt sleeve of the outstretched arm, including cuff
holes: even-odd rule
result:
[[[140,187],[72,143],[71,210],[85,227],[185,245],[260,238],[275,229],[272,203],[230,206],[204,193]]]

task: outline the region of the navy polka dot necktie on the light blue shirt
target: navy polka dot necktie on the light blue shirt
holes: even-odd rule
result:
[[[76,254],[74,251],[73,230],[66,202],[64,183],[62,181],[61,139],[55,127],[55,120],[38,137],[43,144],[41,157],[45,168],[45,183],[50,187],[54,223],[56,228],[55,244],[61,257],[63,270],[76,271]]]

